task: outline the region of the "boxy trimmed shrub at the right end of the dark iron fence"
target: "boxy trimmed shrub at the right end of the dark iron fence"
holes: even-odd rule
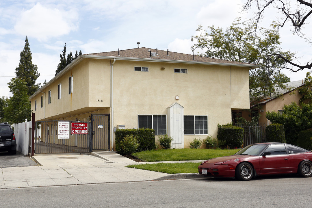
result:
[[[266,126],[266,142],[285,143],[284,125],[280,123],[273,123]]]

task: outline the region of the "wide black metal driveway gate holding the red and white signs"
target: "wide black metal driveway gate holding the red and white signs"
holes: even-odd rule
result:
[[[85,153],[91,152],[90,122],[87,123],[87,134],[71,134],[69,138],[62,138],[58,132],[58,122],[67,122],[71,129],[71,123],[78,121],[37,121],[35,128],[35,153]]]

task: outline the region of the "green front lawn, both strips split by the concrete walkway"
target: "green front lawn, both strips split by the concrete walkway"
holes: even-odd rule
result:
[[[136,152],[133,155],[146,162],[181,161],[181,160],[208,160],[214,157],[233,155],[237,149],[167,149]],[[163,173],[195,173],[200,162],[184,163],[155,163],[129,165],[127,167],[138,168]]]

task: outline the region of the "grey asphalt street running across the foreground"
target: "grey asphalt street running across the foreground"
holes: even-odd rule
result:
[[[312,178],[138,181],[1,190],[5,207],[311,207]]]

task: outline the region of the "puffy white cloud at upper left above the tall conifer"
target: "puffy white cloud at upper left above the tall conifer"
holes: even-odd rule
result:
[[[35,37],[46,41],[51,37],[66,35],[79,27],[76,10],[62,11],[43,7],[37,3],[29,10],[23,11],[14,29],[23,36]]]

